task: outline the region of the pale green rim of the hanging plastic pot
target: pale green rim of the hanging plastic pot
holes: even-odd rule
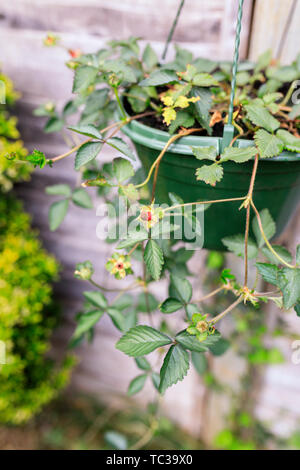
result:
[[[127,135],[133,142],[145,145],[146,147],[163,150],[166,143],[170,139],[170,134],[159,129],[146,126],[138,121],[131,121],[122,127],[122,132]],[[218,153],[221,153],[222,137],[210,137],[210,136],[195,136],[190,135],[182,137],[177,142],[170,145],[168,152],[193,155],[191,147],[208,147],[214,146]],[[254,140],[237,139],[234,143],[234,147],[254,147]],[[264,159],[264,161],[270,162],[300,162],[300,154],[294,152],[284,151],[277,157]]]

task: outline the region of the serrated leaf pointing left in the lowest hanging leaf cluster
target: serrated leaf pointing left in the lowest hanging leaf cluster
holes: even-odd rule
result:
[[[116,348],[128,356],[139,357],[150,354],[157,348],[171,344],[172,340],[150,326],[136,326],[131,328],[117,342]]]

